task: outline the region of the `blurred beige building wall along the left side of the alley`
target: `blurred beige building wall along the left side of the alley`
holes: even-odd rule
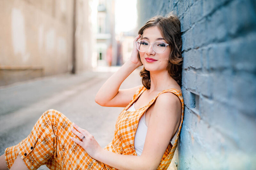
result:
[[[0,86],[92,69],[96,7],[92,0],[1,0]]]

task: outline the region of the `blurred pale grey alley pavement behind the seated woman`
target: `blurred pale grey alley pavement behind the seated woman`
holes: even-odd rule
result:
[[[120,67],[98,68],[75,75],[61,74],[0,87],[0,154],[30,133],[37,119],[49,109],[66,115],[88,130],[104,147],[112,141],[116,118],[123,108],[102,107],[94,98],[103,83]],[[120,89],[141,84],[137,68]],[[41,166],[39,170],[48,169]]]

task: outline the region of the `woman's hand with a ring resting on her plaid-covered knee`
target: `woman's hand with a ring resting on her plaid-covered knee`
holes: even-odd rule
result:
[[[71,137],[71,140],[76,142],[78,145],[82,146],[84,150],[90,155],[92,158],[96,159],[96,155],[99,154],[102,150],[98,142],[94,139],[94,137],[85,129],[80,128],[75,123],[73,123],[73,127],[71,127],[71,130],[73,133],[76,134],[78,138],[82,140],[83,137],[85,137],[82,141],[78,140],[76,138]],[[76,129],[75,129],[76,128]]]

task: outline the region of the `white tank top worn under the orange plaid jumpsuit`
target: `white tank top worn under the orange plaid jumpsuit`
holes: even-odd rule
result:
[[[127,109],[127,111],[134,111],[135,110],[134,103],[132,104],[132,106],[130,106]],[[180,120],[180,123],[181,123],[181,120]],[[135,133],[135,137],[134,137],[134,149],[135,149],[138,156],[140,156],[141,153],[142,153],[144,143],[145,143],[145,139],[146,139],[146,135],[147,135],[147,130],[148,130],[148,127],[146,125],[146,118],[145,118],[145,113],[144,113],[140,117],[139,124],[138,124],[137,130],[136,130],[136,133]],[[177,132],[175,133],[175,135],[173,136],[172,140],[174,138],[176,138],[178,131],[179,131],[179,128],[178,128]],[[173,141],[172,140],[170,142],[173,145],[175,140],[173,140]]]

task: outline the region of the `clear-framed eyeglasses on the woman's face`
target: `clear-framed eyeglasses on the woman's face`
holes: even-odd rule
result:
[[[136,46],[137,46],[137,49],[140,51],[140,52],[145,52],[148,50],[148,47],[149,45],[152,44],[153,46],[153,50],[156,52],[156,53],[164,53],[165,49],[166,49],[166,46],[168,46],[169,44],[163,42],[163,41],[156,41],[154,43],[148,43],[148,41],[146,40],[139,40],[139,41],[136,41]]]

